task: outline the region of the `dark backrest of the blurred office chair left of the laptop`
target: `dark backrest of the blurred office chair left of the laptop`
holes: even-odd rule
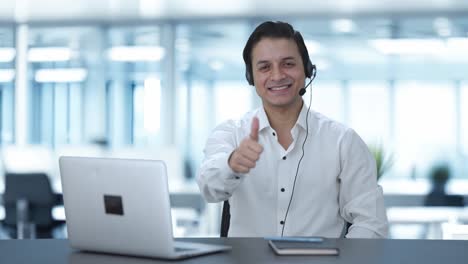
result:
[[[52,192],[49,178],[45,173],[5,173],[5,221],[15,226],[16,202],[26,200],[28,203],[29,221],[37,227],[52,225],[52,207],[56,196]]]

